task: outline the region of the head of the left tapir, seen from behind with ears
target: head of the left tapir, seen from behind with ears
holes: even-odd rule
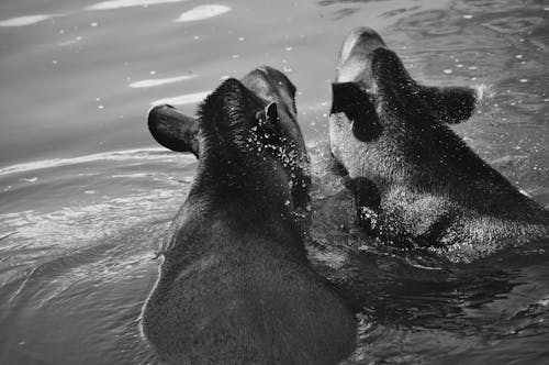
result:
[[[206,147],[210,152],[231,154],[235,146],[249,150],[251,157],[256,147],[250,143],[259,143],[285,170],[294,207],[306,208],[311,184],[309,157],[294,97],[295,87],[285,75],[262,66],[242,81],[224,81],[202,103],[199,118],[170,106],[158,106],[149,111],[148,126],[163,146],[193,153],[198,158]]]

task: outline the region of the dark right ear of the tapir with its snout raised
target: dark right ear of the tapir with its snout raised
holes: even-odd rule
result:
[[[477,92],[467,87],[419,87],[419,95],[441,121],[457,124],[471,118]]]

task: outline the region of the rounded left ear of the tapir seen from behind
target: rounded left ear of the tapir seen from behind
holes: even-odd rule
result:
[[[148,130],[156,142],[176,152],[199,156],[198,122],[176,108],[156,106],[148,112]]]

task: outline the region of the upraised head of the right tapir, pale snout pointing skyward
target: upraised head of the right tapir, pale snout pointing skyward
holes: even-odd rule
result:
[[[463,158],[478,164],[447,125],[471,117],[473,89],[418,85],[369,29],[351,32],[339,57],[330,146],[351,178],[368,178],[381,190],[391,182],[441,186]]]

